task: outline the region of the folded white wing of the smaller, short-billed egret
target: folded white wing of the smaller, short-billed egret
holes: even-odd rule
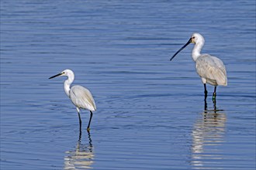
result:
[[[70,97],[75,106],[88,110],[96,110],[92,93],[85,87],[79,85],[71,87]]]

